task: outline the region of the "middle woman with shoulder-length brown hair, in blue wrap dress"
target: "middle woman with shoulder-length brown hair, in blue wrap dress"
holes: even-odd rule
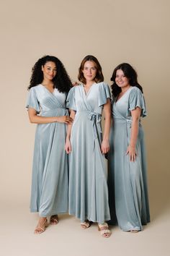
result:
[[[67,106],[73,126],[68,124],[66,152],[69,162],[69,213],[80,218],[81,228],[97,222],[102,236],[109,237],[107,170],[104,154],[109,150],[110,93],[103,82],[102,67],[88,55],[79,68],[78,85],[70,90]],[[104,111],[104,136],[101,118]]]

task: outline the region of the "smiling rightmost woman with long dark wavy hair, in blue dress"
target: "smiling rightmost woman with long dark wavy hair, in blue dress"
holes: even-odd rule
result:
[[[146,103],[137,73],[130,64],[118,65],[111,80],[113,122],[108,153],[111,222],[115,223],[117,218],[120,229],[138,232],[150,221],[146,152],[140,122],[140,117],[146,116]]]

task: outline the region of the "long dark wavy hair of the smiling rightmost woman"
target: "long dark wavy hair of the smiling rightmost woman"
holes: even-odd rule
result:
[[[135,72],[135,69],[133,69],[133,67],[130,66],[130,64],[128,64],[128,63],[122,63],[122,64],[118,65],[117,67],[115,67],[112,77],[110,79],[111,81],[113,81],[111,88],[112,88],[112,95],[114,97],[117,97],[117,95],[119,95],[121,93],[121,88],[115,82],[116,72],[118,69],[122,70],[122,72],[125,74],[125,77],[128,78],[131,86],[138,87],[141,90],[141,92],[143,93],[142,86],[138,84],[138,79],[137,79],[138,74],[137,74],[137,72]]]

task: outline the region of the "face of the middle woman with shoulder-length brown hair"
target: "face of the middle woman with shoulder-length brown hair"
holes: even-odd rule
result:
[[[94,81],[97,75],[97,65],[94,61],[86,61],[84,63],[84,69],[82,70],[84,73],[84,78],[86,82]]]

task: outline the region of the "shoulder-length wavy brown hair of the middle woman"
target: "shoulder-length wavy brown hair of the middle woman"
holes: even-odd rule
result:
[[[86,79],[85,79],[84,73],[83,73],[84,64],[85,64],[86,61],[93,61],[96,64],[96,66],[97,66],[97,75],[94,78],[94,81],[95,82],[103,82],[104,81],[104,77],[103,77],[103,74],[102,74],[102,67],[99,64],[98,59],[96,57],[92,56],[92,55],[87,55],[81,61],[81,65],[79,67],[79,75],[78,75],[79,81],[83,82],[84,84],[86,83]]]

